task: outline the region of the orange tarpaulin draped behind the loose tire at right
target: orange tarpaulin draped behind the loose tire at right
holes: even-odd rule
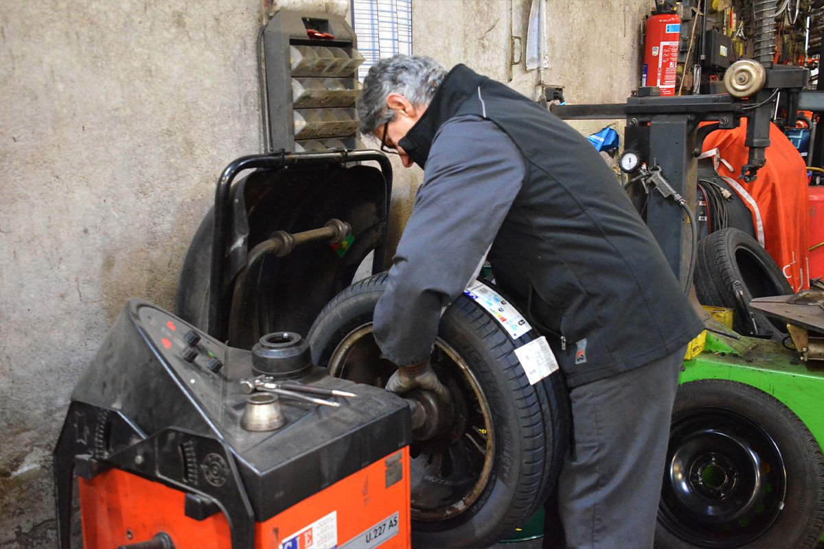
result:
[[[715,148],[725,162],[719,162],[719,175],[734,179],[733,185],[752,213],[756,237],[760,234],[767,253],[778,263],[794,291],[809,287],[808,268],[808,184],[803,157],[784,133],[770,124],[770,147],[765,150],[766,164],[752,183],[737,179],[747,164],[749,148],[747,119],[738,128],[710,133],[704,151]],[[749,195],[748,198],[747,195]]]

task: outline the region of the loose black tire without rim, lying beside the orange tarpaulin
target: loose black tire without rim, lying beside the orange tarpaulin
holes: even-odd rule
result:
[[[741,230],[716,230],[700,241],[695,292],[702,305],[734,309],[733,327],[738,333],[774,339],[787,334],[780,320],[751,309],[750,301],[789,295],[793,289],[770,254]]]

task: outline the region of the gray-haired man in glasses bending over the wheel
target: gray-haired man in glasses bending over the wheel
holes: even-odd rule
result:
[[[702,325],[615,174],[573,128],[463,65],[382,59],[358,114],[425,172],[375,309],[399,365],[387,388],[448,398],[428,365],[438,320],[487,258],[569,384],[566,547],[653,547],[678,366]]]

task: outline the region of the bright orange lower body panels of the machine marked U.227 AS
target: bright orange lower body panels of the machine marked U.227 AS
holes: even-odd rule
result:
[[[255,549],[409,549],[409,448],[255,523]],[[185,493],[121,469],[79,479],[83,546],[113,549],[171,537],[176,549],[231,549],[222,513],[184,513]]]

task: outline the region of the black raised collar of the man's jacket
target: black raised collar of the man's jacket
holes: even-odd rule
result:
[[[456,114],[485,80],[485,77],[462,64],[447,73],[424,114],[398,142],[415,164],[424,167],[438,129]]]

